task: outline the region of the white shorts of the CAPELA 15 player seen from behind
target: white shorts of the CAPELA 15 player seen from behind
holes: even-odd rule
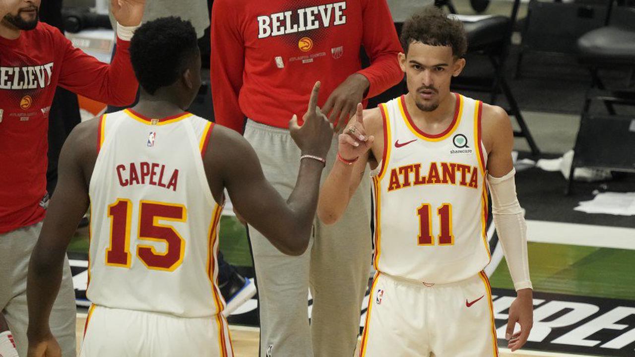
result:
[[[91,306],[80,357],[233,357],[227,320]]]

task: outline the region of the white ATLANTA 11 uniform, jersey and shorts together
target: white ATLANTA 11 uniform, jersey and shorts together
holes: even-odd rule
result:
[[[483,268],[487,154],[482,103],[455,94],[438,135],[417,128],[405,97],[380,105],[384,154],[375,176],[375,259],[361,356],[497,356]],[[460,342],[460,343],[459,343]]]

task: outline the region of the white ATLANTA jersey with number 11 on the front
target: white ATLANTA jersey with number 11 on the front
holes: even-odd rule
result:
[[[380,105],[384,154],[373,177],[375,269],[425,283],[452,283],[490,261],[482,102],[455,94],[448,129],[418,129],[405,97]]]

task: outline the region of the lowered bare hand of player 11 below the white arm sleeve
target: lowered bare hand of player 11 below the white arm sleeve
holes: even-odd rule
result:
[[[516,322],[520,325],[520,331],[514,333]],[[518,297],[509,307],[509,320],[507,321],[507,347],[516,351],[525,345],[533,326],[533,297],[531,289],[518,290]]]

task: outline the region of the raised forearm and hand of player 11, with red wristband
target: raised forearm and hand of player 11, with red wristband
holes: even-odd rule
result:
[[[377,114],[378,109],[363,112],[362,105],[358,104],[354,119],[338,137],[338,159],[324,180],[319,196],[318,217],[324,224],[334,224],[342,217],[366,172],[371,158],[369,149],[378,137]],[[382,125],[381,118],[379,125]],[[354,132],[351,128],[355,128]]]

